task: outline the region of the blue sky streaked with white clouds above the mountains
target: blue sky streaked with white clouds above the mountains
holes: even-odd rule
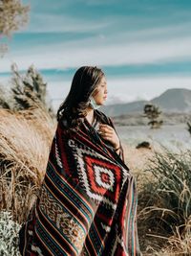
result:
[[[0,81],[33,64],[48,82],[57,107],[75,70],[97,65],[108,81],[106,104],[191,89],[191,1],[31,0],[30,21],[8,42]]]

